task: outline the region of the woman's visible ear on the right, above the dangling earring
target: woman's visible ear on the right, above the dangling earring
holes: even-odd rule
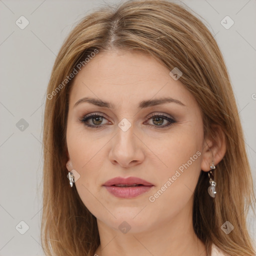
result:
[[[222,128],[215,124],[212,125],[214,134],[211,134],[204,139],[201,170],[209,171],[212,161],[214,165],[218,164],[225,155],[226,152],[226,140],[225,133]]]

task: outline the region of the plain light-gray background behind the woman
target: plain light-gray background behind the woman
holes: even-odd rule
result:
[[[231,77],[255,182],[256,1],[183,2],[201,15],[216,34]],[[1,256],[43,255],[39,231],[45,90],[56,54],[68,32],[79,19],[103,4],[103,0],[0,0]],[[29,21],[24,29],[15,23],[21,15]],[[229,29],[220,23],[226,15],[234,21]],[[28,225],[28,230],[20,221]],[[256,240],[252,215],[248,217],[248,226]],[[22,231],[26,232],[21,234]]]

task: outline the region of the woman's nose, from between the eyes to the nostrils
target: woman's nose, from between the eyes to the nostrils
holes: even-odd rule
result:
[[[135,134],[134,125],[130,125],[128,129],[120,127],[118,126],[111,142],[110,161],[124,168],[141,163],[144,160],[143,142]]]

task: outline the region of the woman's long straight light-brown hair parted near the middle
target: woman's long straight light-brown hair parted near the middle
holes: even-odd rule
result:
[[[254,255],[246,217],[255,195],[222,54],[214,36],[192,10],[167,0],[128,0],[101,6],[79,20],[58,52],[44,110],[44,252],[91,256],[100,243],[95,216],[83,204],[75,186],[70,189],[66,177],[68,95],[73,81],[70,74],[78,63],[92,52],[117,49],[149,54],[169,70],[178,67],[182,71],[179,81],[202,111],[204,136],[215,139],[214,125],[223,130],[226,152],[214,174],[217,195],[213,199],[207,194],[208,173],[201,170],[194,191],[193,228],[207,255],[212,243],[233,256]],[[84,66],[85,61],[82,63]],[[227,220],[234,226],[228,235],[220,228]]]

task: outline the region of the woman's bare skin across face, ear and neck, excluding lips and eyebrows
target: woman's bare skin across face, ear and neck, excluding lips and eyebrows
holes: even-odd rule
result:
[[[179,80],[151,56],[112,50],[99,52],[76,74],[69,95],[67,117],[68,170],[80,177],[75,187],[84,205],[97,218],[99,256],[109,255],[200,255],[205,245],[192,226],[192,202],[200,171],[210,170],[225,152],[223,132],[215,141],[203,136],[201,110]],[[74,106],[83,97],[109,101],[115,108],[88,102]],[[139,109],[140,101],[172,97],[183,105],[168,102]],[[96,112],[100,121],[79,118]],[[175,122],[147,118],[149,114],[172,116]],[[126,118],[131,126],[124,132],[118,123]],[[149,201],[169,177],[190,157],[200,155],[155,199]],[[110,178],[136,176],[154,186],[134,198],[118,198],[102,186]],[[207,193],[207,191],[203,191]],[[212,198],[209,197],[209,200]],[[118,226],[130,227],[122,233]]]

